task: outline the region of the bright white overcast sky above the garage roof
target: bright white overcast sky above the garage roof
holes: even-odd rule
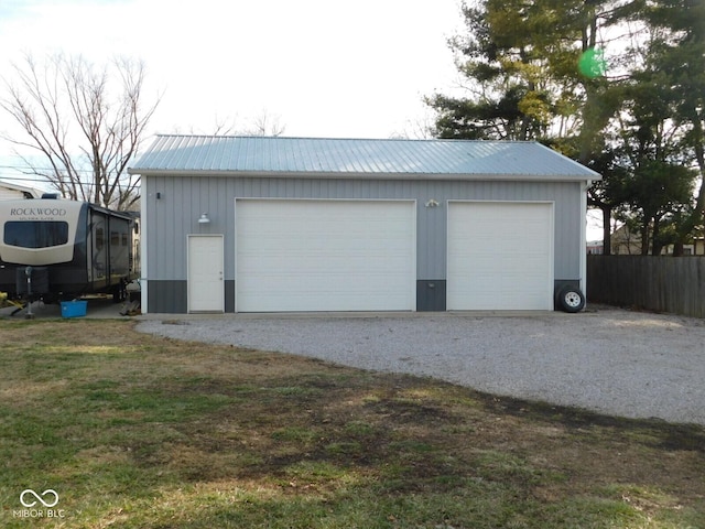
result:
[[[462,32],[460,0],[0,0],[0,76],[28,53],[142,60],[160,100],[148,142],[264,115],[284,136],[414,138],[433,120],[423,97],[459,86]],[[0,180],[12,153],[0,140]]]

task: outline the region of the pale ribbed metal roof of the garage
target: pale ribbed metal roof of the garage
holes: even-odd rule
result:
[[[599,180],[536,142],[158,136],[131,174]]]

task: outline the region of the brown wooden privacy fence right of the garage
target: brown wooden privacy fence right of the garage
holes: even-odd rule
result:
[[[705,317],[705,257],[587,256],[587,299]]]

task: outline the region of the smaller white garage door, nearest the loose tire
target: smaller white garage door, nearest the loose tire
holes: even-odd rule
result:
[[[553,309],[553,204],[448,204],[448,310]]]

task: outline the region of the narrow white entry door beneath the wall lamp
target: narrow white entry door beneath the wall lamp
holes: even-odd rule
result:
[[[223,236],[188,236],[188,312],[224,312]]]

